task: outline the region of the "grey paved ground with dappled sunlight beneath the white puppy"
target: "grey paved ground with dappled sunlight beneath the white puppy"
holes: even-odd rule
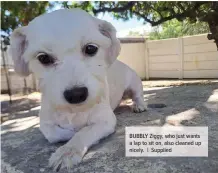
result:
[[[161,84],[162,85],[162,84]],[[171,84],[170,84],[171,85]],[[218,82],[204,85],[173,85],[145,88],[148,103],[164,103],[162,109],[141,114],[119,108],[116,133],[91,148],[82,164],[70,172],[138,173],[217,173],[218,172]],[[2,124],[3,173],[52,173],[48,159],[58,145],[49,144],[38,130],[39,103],[20,98],[2,111],[9,120]],[[19,109],[18,109],[18,108]],[[209,157],[202,158],[126,158],[125,126],[188,125],[209,127]],[[67,170],[61,171],[67,173]]]

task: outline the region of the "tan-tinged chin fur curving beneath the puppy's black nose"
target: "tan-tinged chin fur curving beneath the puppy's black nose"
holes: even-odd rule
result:
[[[63,105],[55,105],[54,108],[60,112],[67,113],[78,113],[78,112],[86,112],[89,109],[93,108],[95,105],[99,104],[102,99],[105,99],[105,94],[103,90],[99,90],[96,97],[93,99],[88,98],[85,102],[80,104],[63,104]]]

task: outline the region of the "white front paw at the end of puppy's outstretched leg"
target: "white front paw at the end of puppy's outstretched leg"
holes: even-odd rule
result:
[[[54,171],[62,168],[70,169],[82,161],[83,154],[76,147],[64,145],[56,150],[49,159],[49,166]]]

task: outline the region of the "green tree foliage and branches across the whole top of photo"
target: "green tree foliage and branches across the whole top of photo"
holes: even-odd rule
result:
[[[45,13],[57,4],[63,8],[81,8],[94,15],[110,12],[114,18],[124,21],[135,16],[152,26],[158,26],[172,19],[181,22],[185,20],[188,23],[204,21],[209,24],[211,31],[208,38],[214,39],[218,47],[217,1],[3,1],[1,2],[1,31],[10,34],[16,27],[27,25],[34,17]],[[180,31],[180,27],[176,24],[174,26],[176,28],[168,27],[165,37],[180,34],[177,32]],[[196,33],[189,28],[188,32]]]

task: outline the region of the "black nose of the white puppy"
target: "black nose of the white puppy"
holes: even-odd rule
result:
[[[64,98],[70,104],[84,102],[88,97],[88,89],[86,87],[75,87],[64,91]]]

